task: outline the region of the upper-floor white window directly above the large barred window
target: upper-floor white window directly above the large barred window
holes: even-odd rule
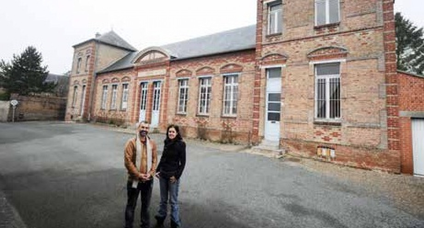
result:
[[[315,0],[315,25],[326,25],[339,21],[339,0]]]

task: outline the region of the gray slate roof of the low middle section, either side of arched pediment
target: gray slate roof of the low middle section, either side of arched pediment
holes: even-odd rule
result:
[[[214,33],[172,44],[161,46],[172,60],[195,58],[239,50],[254,49],[256,45],[256,25],[249,25],[229,31]],[[110,65],[99,73],[123,70],[132,67],[131,61],[138,53],[129,53],[119,61]]]

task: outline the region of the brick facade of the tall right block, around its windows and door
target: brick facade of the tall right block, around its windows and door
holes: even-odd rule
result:
[[[258,23],[257,59],[273,53],[287,57],[282,68],[280,145],[312,157],[318,156],[318,147],[330,147],[335,149],[335,163],[399,172],[393,0],[340,1],[340,22],[321,26],[315,26],[314,1],[283,1],[283,32],[273,35],[267,34],[263,2],[258,0],[262,23]],[[318,124],[314,63],[340,59],[341,120],[338,125]],[[266,77],[264,69],[257,72],[259,99],[254,111],[259,118],[254,119],[258,130],[253,137],[261,139]]]

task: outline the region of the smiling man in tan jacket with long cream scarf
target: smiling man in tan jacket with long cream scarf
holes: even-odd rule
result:
[[[152,196],[153,175],[157,164],[156,143],[147,135],[150,125],[140,122],[137,136],[129,139],[125,146],[124,163],[128,170],[125,209],[125,228],[132,228],[137,198],[141,195],[141,228],[150,227],[149,205]]]

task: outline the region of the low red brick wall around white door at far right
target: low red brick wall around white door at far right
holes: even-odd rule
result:
[[[398,72],[399,111],[424,113],[424,76]],[[413,174],[411,117],[399,117],[402,172]]]

